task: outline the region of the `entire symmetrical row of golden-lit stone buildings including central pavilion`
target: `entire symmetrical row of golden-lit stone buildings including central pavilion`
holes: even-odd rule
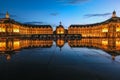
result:
[[[99,38],[111,38],[120,37],[120,17],[116,16],[114,11],[112,17],[104,22],[87,24],[87,25],[70,25],[68,30],[64,29],[60,22],[60,25],[56,27],[53,33],[53,28],[50,25],[28,25],[21,24],[11,19],[8,12],[6,17],[0,19],[0,37],[1,36],[40,36],[51,37],[71,37],[75,35],[82,35],[82,37],[99,37]],[[73,37],[72,37],[73,36]]]

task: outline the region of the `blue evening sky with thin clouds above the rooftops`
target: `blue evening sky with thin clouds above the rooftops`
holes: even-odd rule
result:
[[[61,21],[71,24],[91,24],[104,21],[116,10],[120,16],[120,0],[0,0],[0,17],[6,11],[21,23],[50,24]]]

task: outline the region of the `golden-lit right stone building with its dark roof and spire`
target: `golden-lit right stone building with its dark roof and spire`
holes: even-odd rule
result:
[[[120,37],[120,17],[114,11],[104,22],[87,25],[70,25],[68,34],[81,34],[82,37]]]

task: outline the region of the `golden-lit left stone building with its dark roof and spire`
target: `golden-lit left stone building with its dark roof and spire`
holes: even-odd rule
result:
[[[51,35],[53,28],[50,25],[21,24],[10,18],[8,12],[6,18],[0,19],[0,36],[12,35]]]

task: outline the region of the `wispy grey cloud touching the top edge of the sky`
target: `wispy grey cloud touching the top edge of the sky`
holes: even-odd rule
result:
[[[76,5],[76,4],[87,2],[87,1],[89,0],[57,0],[57,2],[61,2],[68,5]]]

